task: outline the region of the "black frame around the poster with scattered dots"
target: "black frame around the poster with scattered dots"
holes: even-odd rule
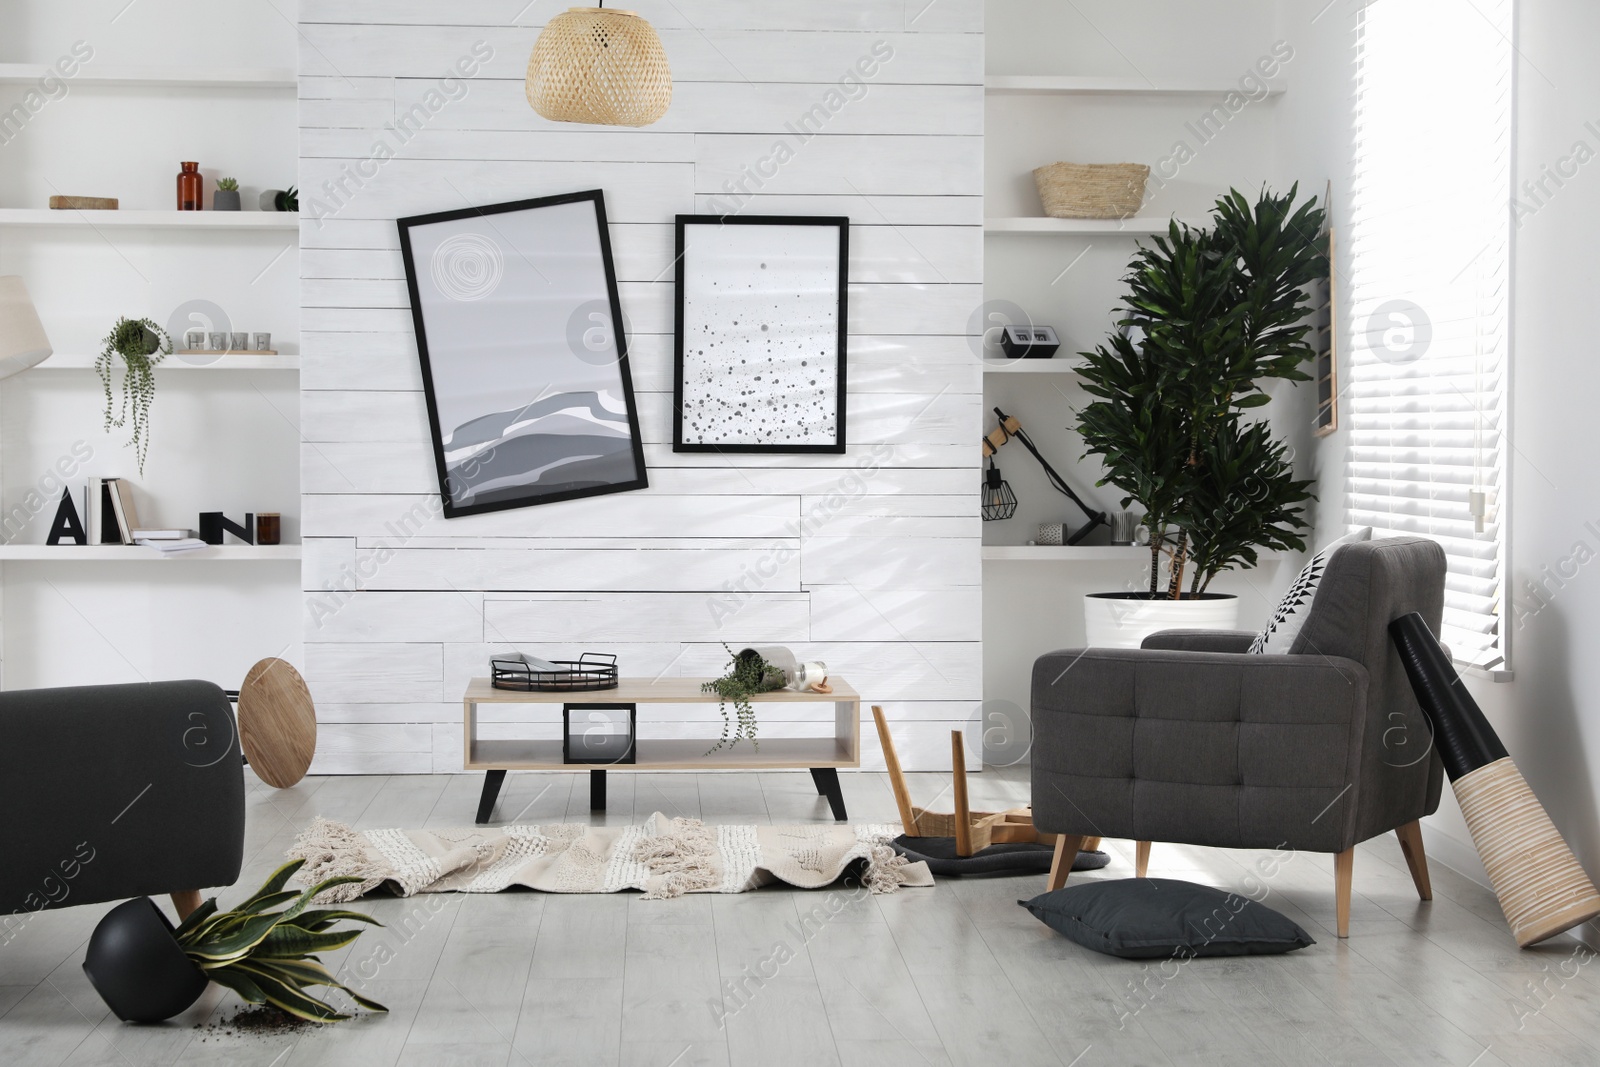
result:
[[[685,437],[685,293],[688,272],[694,270],[694,250],[690,230],[693,227],[837,227],[838,230],[838,277],[837,277],[837,333],[835,346],[835,397],[834,440],[827,443],[752,443],[742,440],[706,440],[704,435]],[[850,302],[850,219],[846,216],[797,216],[797,214],[680,214],[675,218],[675,293],[674,293],[674,326],[672,326],[672,451],[675,453],[779,453],[779,454],[843,454],[846,448],[845,416],[848,397],[846,352],[848,352],[848,302]],[[691,400],[693,402],[693,400]]]

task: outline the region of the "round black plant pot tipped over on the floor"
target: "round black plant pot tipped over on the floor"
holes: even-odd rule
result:
[[[200,1000],[208,979],[150,897],[109,910],[90,934],[83,973],[123,1022],[162,1022]]]

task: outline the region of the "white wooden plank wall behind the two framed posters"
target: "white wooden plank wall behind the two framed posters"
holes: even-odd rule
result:
[[[883,704],[914,769],[949,766],[952,728],[978,734],[982,381],[965,334],[984,277],[982,3],[629,6],[659,29],[675,80],[670,112],[646,130],[549,123],[528,107],[528,53],[560,5],[507,24],[517,5],[498,0],[301,0],[315,771],[459,769],[461,689],[504,648],[611,651],[630,675],[693,677],[717,672],[725,641],[786,643]],[[466,91],[453,85],[400,144],[397,120],[474,50],[490,58]],[[840,96],[874,50],[875,74]],[[830,102],[821,133],[790,130]],[[779,141],[794,158],[730,195]],[[394,158],[352,181],[376,144]],[[651,485],[445,520],[394,219],[595,187]],[[672,451],[672,216],[731,210],[851,219],[846,456]],[[763,712],[763,734],[829,733],[826,710]],[[533,718],[504,709],[490,729],[554,736]],[[715,705],[664,707],[640,734],[718,726]],[[864,737],[864,763],[882,766]]]

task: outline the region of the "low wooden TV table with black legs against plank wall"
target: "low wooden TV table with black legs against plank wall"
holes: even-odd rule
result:
[[[478,798],[478,822],[488,822],[499,798],[506,771],[589,771],[589,808],[605,811],[605,773],[610,771],[779,771],[806,768],[819,797],[827,797],[834,817],[845,821],[845,797],[838,789],[838,768],[861,766],[861,696],[842,678],[830,677],[832,693],[797,693],[779,689],[752,696],[758,709],[766,704],[832,704],[834,736],[830,737],[762,737],[760,747],[741,741],[733,747],[709,752],[717,737],[642,737],[635,742],[634,763],[566,763],[560,737],[554,741],[502,739],[478,736],[478,705],[539,704],[549,709],[552,721],[562,725],[565,704],[632,704],[646,720],[650,704],[717,704],[715,693],[701,693],[709,678],[621,678],[614,689],[594,693],[523,693],[496,689],[488,678],[474,678],[461,697],[461,721],[466,731],[469,771],[488,771]],[[544,710],[541,709],[541,710]],[[731,709],[730,709],[731,713]]]

